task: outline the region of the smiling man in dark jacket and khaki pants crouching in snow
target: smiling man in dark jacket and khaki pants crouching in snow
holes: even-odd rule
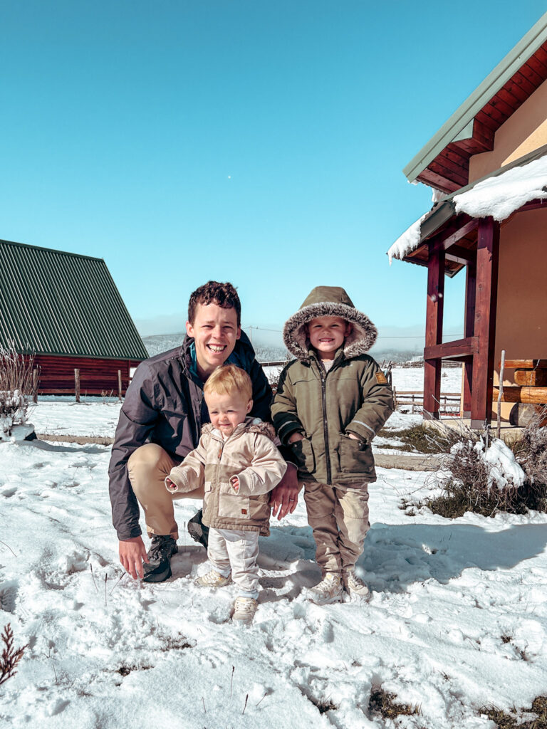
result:
[[[186,332],[182,346],[137,367],[120,411],[109,464],[120,562],[131,577],[144,577],[148,582],[171,577],[170,561],[179,536],[173,500],[203,499],[203,486],[186,494],[170,494],[164,480],[196,448],[201,426],[209,423],[203,400],[209,375],[225,362],[241,367],[252,381],[249,415],[271,419],[271,387],[249,339],[241,332],[241,303],[232,284],[209,281],[193,292]],[[281,519],[295,510],[297,502],[296,469],[289,467],[272,491],[272,511]],[[148,553],[139,526],[139,503],[152,539]],[[188,531],[206,546],[201,512],[190,521]]]

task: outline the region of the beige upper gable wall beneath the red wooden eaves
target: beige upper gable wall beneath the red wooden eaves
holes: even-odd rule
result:
[[[547,81],[500,126],[494,136],[492,152],[471,157],[469,182],[518,160],[543,144],[547,144]]]

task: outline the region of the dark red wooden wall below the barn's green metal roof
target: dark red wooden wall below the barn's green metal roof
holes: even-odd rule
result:
[[[130,368],[139,362],[127,359],[94,359],[93,357],[36,354],[34,367],[39,370],[38,394],[73,394],[74,369],[79,369],[81,395],[118,394],[118,370],[122,373],[122,394],[130,382]]]

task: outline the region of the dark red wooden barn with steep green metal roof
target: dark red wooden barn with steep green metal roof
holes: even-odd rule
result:
[[[0,345],[34,356],[38,394],[125,393],[148,356],[104,260],[0,241]],[[121,387],[120,387],[121,384]]]

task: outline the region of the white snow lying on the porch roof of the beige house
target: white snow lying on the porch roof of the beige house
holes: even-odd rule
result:
[[[530,200],[547,199],[547,155],[531,162],[514,166],[477,182],[469,190],[450,195],[443,204],[451,204],[455,214],[466,213],[473,218],[492,216],[497,221],[507,219]],[[427,212],[416,220],[389,248],[392,259],[402,260],[414,251],[422,240],[422,222]]]

